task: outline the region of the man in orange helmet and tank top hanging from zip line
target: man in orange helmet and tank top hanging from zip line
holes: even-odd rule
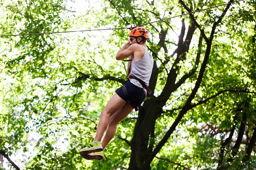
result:
[[[133,108],[137,111],[138,106],[146,99],[146,92],[151,92],[148,84],[153,69],[153,57],[146,49],[148,31],[144,27],[136,27],[132,29],[129,37],[128,42],[116,55],[117,60],[130,57],[130,60],[126,60],[129,61],[128,80],[123,87],[116,90],[101,112],[94,141],[79,151],[85,159],[103,159],[103,150],[114,137],[117,124],[128,116]],[[101,143],[104,132],[106,133]]]

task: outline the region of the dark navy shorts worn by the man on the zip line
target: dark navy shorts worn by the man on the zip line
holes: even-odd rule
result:
[[[124,94],[123,88],[124,86],[126,87],[126,90],[128,92],[128,95]],[[139,88],[132,84],[129,80],[127,80],[124,84],[124,86],[118,88],[116,90],[117,95],[130,103],[133,107],[135,106],[140,106],[141,103],[145,100],[145,92],[143,88]]]

